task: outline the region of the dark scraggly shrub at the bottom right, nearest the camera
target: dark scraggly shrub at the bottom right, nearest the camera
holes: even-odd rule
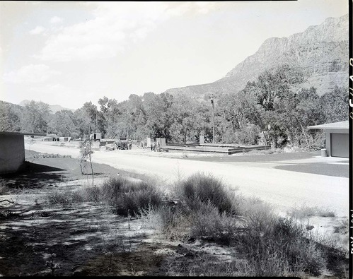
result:
[[[291,219],[264,214],[250,218],[238,244],[255,266],[257,276],[280,276],[306,272],[319,275],[326,267],[323,251]]]

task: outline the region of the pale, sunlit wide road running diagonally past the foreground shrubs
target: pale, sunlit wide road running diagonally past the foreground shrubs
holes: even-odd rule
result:
[[[26,149],[29,146],[25,145]],[[33,143],[31,150],[58,153],[78,158],[79,149]],[[340,164],[342,158],[309,158],[278,162],[202,162],[161,156],[149,156],[133,150],[96,151],[93,162],[104,163],[144,174],[161,177],[166,185],[175,182],[178,174],[183,177],[195,172],[212,173],[227,184],[238,188],[244,196],[256,196],[272,203],[278,211],[285,212],[296,206],[319,206],[335,210],[338,216],[348,215],[349,179],[328,175],[292,172],[275,167],[285,164],[330,163]],[[341,162],[340,162],[341,161]]]

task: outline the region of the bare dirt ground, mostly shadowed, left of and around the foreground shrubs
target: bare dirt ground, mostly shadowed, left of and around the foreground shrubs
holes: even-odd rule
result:
[[[79,189],[91,184],[91,177],[81,174],[75,158],[37,154],[26,150],[26,170],[0,177],[8,188],[0,201],[14,202],[0,208],[0,275],[207,275],[204,266],[243,261],[231,247],[207,240],[167,241],[143,220],[122,218],[94,203],[48,205],[50,192]],[[112,175],[145,177],[97,163],[93,170],[96,185]],[[346,245],[344,226],[337,229],[345,219],[326,218],[326,225],[322,219],[310,222]]]

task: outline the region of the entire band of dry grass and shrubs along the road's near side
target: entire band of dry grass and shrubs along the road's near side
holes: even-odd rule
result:
[[[330,210],[302,207],[292,210],[291,218],[279,218],[269,204],[236,195],[221,180],[202,173],[179,179],[170,201],[163,201],[163,196],[154,182],[110,177],[102,186],[53,192],[48,200],[60,204],[102,203],[120,215],[139,215],[143,227],[154,228],[166,239],[207,239],[243,255],[242,261],[221,264],[203,259],[199,267],[170,263],[168,275],[303,277],[345,266],[344,255],[331,242],[313,237],[296,221],[299,217],[330,215]],[[121,244],[119,239],[117,243]]]

